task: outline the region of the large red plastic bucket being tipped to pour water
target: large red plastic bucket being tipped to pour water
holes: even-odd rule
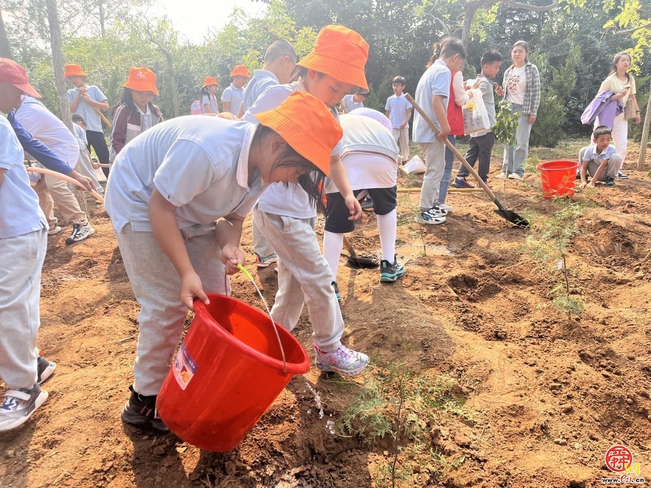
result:
[[[237,299],[208,293],[195,301],[195,318],[158,394],[165,425],[204,450],[227,452],[245,435],[310,358],[290,332]]]

